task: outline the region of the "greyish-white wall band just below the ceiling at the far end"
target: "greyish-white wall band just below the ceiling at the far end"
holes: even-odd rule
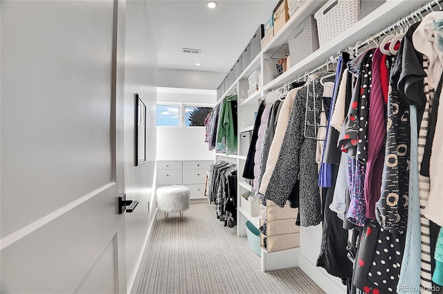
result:
[[[159,86],[215,90],[228,73],[159,68]]]

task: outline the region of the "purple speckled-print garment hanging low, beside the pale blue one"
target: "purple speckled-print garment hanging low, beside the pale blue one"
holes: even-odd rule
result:
[[[350,205],[347,220],[356,226],[365,226],[365,181],[366,164],[355,158],[347,158],[347,174],[349,176]]]

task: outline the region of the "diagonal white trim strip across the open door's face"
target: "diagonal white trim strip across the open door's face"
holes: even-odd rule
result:
[[[31,233],[35,232],[39,228],[42,228],[43,226],[47,225],[51,221],[57,219],[57,217],[62,216],[66,212],[69,212],[69,210],[73,210],[74,208],[78,207],[82,203],[91,199],[93,196],[97,196],[98,194],[109,189],[113,185],[116,185],[116,182],[107,183],[106,185],[103,185],[102,187],[99,187],[98,189],[93,190],[92,192],[89,192],[88,194],[81,196],[78,199],[75,199],[71,203],[64,205],[62,208],[54,210],[50,214],[46,214],[46,216],[44,216],[40,219],[37,219],[37,221],[33,221],[32,223],[28,224],[28,226],[24,226],[23,228],[16,230],[15,232],[12,232],[10,235],[1,238],[0,239],[0,250],[8,248],[9,246],[14,244],[15,242],[30,235]]]

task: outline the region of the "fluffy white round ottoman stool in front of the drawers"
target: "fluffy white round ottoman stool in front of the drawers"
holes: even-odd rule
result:
[[[165,222],[168,222],[169,212],[180,212],[183,221],[183,211],[190,205],[190,190],[181,185],[159,187],[156,192],[157,208],[165,212]]]

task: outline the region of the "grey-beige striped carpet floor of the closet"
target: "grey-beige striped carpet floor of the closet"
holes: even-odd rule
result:
[[[137,293],[286,294],[324,293],[300,268],[263,273],[260,257],[224,227],[215,206],[193,203],[184,214],[157,212]]]

